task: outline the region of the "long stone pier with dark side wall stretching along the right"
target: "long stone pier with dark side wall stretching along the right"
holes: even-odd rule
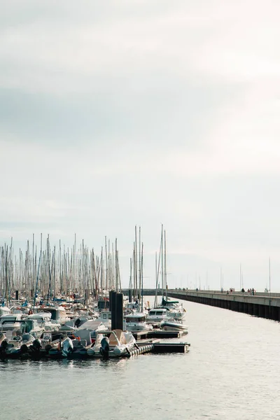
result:
[[[280,321],[280,294],[217,290],[168,290],[168,296]]]

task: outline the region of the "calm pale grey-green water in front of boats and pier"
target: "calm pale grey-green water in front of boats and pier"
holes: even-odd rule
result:
[[[0,419],[280,419],[280,324],[183,304],[186,354],[0,362]]]

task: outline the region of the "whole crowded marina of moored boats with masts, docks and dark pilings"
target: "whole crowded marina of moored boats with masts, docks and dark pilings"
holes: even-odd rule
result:
[[[137,237],[138,235],[138,237]],[[167,343],[167,339],[188,334],[183,323],[186,309],[167,296],[166,233],[161,232],[160,255],[156,255],[156,283],[161,288],[153,297],[154,306],[144,300],[143,244],[137,233],[130,259],[130,289],[124,301],[118,265],[118,246],[105,237],[100,256],[76,241],[68,255],[50,248],[39,258],[34,241],[27,242],[25,260],[20,263],[10,248],[0,253],[1,306],[0,358],[41,360],[48,358],[123,358],[141,353],[186,353],[187,342]],[[108,247],[107,247],[108,245]],[[56,269],[56,267],[59,267]],[[133,274],[132,274],[133,273]],[[158,302],[160,300],[160,302]],[[148,343],[143,344],[143,339]],[[163,339],[158,342],[153,339]]]

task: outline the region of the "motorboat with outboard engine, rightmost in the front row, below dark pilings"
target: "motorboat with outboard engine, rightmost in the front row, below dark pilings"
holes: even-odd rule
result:
[[[123,330],[111,330],[110,335],[107,332],[100,332],[94,346],[87,349],[88,357],[115,358],[130,356],[130,351],[137,346],[132,332]]]

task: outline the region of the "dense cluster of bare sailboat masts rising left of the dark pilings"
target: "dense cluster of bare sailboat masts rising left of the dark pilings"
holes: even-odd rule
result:
[[[105,246],[97,255],[94,249],[85,246],[84,241],[71,248],[50,245],[50,237],[43,248],[36,246],[34,235],[30,246],[27,241],[25,251],[15,254],[13,239],[10,245],[0,247],[0,295],[7,302],[18,290],[20,295],[30,300],[36,295],[47,300],[57,295],[78,293],[85,295],[88,290],[93,295],[109,295],[109,290],[121,289],[118,263],[117,239],[113,243],[105,237]]]

